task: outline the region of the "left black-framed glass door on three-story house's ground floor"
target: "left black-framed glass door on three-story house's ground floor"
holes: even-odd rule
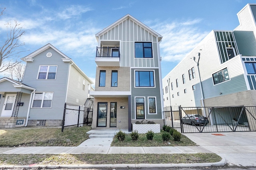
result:
[[[107,109],[108,103],[98,103],[97,127],[107,126]]]

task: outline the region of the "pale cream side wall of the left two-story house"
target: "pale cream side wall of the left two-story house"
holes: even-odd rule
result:
[[[85,88],[83,90],[83,80],[85,80]],[[76,68],[70,66],[70,75],[68,81],[68,93],[67,93],[67,103],[75,105],[84,105],[88,97],[88,80],[82,76]]]

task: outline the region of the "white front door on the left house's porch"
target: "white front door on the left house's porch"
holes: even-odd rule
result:
[[[16,100],[16,94],[6,94],[1,117],[11,117]]]

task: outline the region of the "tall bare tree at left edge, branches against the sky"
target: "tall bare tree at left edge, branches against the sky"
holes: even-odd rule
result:
[[[5,8],[1,10],[0,16],[3,15]],[[15,20],[14,25],[8,22],[6,27],[10,32],[7,32],[6,38],[0,37],[0,72],[13,68],[21,62],[18,54],[24,52],[20,47],[25,45],[20,43],[20,38],[25,34],[20,23]]]

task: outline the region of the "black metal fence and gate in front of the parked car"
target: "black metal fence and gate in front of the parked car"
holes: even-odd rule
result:
[[[256,107],[165,107],[166,125],[181,133],[256,131]]]

